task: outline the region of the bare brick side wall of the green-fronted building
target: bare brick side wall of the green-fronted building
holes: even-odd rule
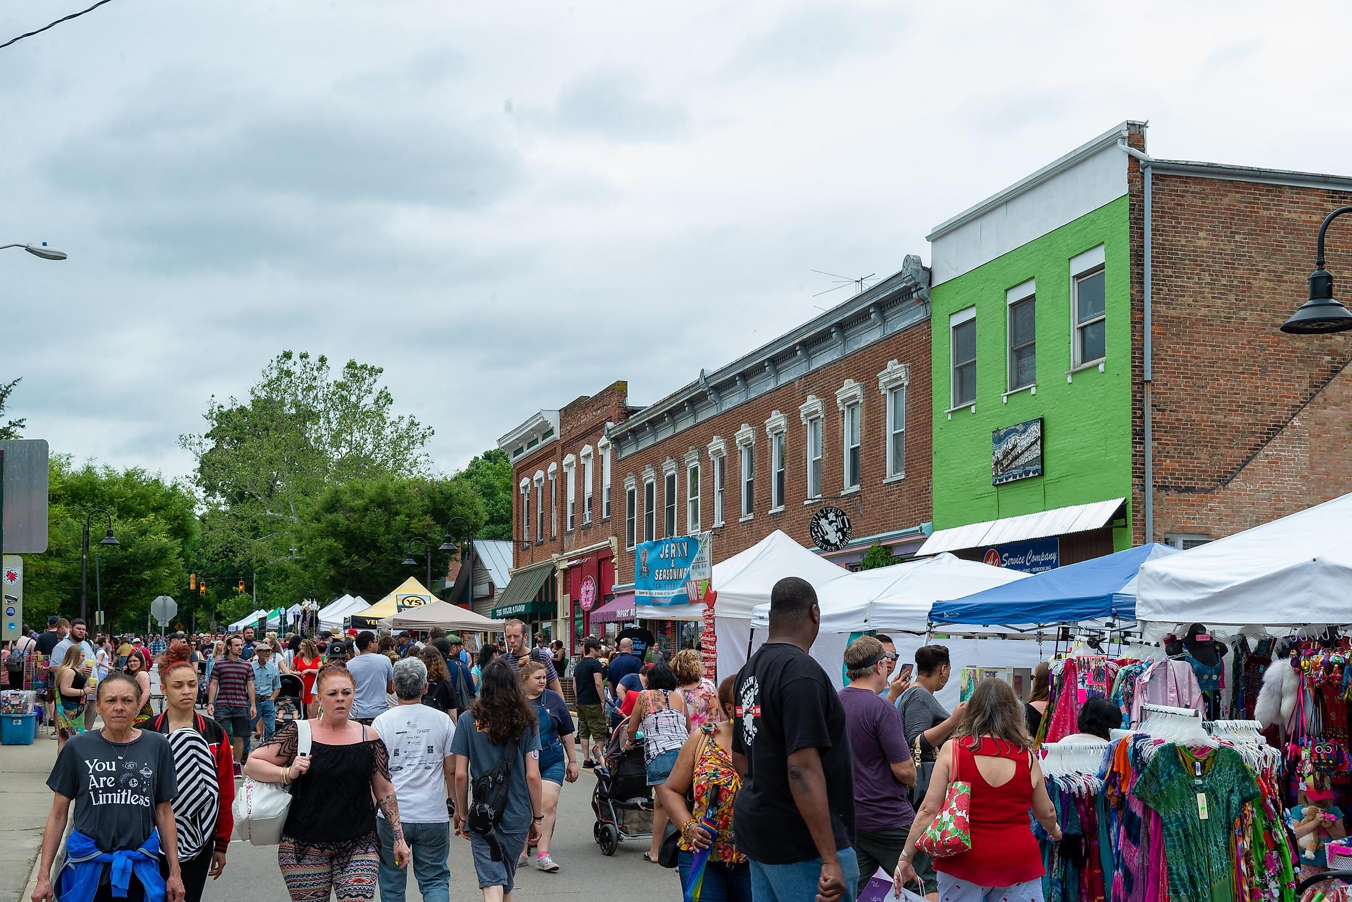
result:
[[[1140,184],[1137,172],[1137,264],[1144,262]],[[1279,331],[1306,299],[1320,222],[1352,203],[1352,192],[1161,173],[1152,191],[1155,537],[1220,538],[1352,491],[1352,333]],[[1328,257],[1336,296],[1347,298],[1352,223],[1330,229]],[[1137,495],[1144,485],[1140,312],[1136,284]],[[1136,537],[1144,541],[1136,510]]]

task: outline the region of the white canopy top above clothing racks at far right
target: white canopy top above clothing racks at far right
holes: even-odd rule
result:
[[[1136,586],[1148,637],[1178,625],[1352,621],[1352,494],[1152,560]]]

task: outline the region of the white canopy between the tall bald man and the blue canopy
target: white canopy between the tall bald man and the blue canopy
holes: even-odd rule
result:
[[[822,609],[822,632],[925,633],[934,602],[963,598],[1028,576],[1021,571],[964,561],[948,553],[845,573],[817,592],[817,602]],[[722,595],[718,600],[722,604]],[[752,626],[757,630],[769,626],[769,604],[756,606]]]

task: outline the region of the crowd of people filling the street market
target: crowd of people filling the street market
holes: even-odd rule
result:
[[[34,902],[57,898],[47,874],[72,803],[62,902],[200,899],[226,868],[241,776],[291,788],[277,855],[297,902],[377,890],[403,902],[410,870],[423,898],[448,901],[452,836],[469,841],[483,898],[510,899],[519,868],[561,870],[560,795],[617,744],[641,753],[653,794],[644,857],[675,864],[700,899],[849,902],[882,868],[930,899],[1041,902],[1030,815],[1053,840],[1060,828],[1033,755],[1037,707],[992,679],[949,711],[936,696],[946,649],[898,668],[886,636],[848,646],[837,690],[808,653],[819,617],[808,583],[780,580],[767,641],[717,686],[694,649],[667,660],[587,637],[571,663],[519,621],[473,655],[441,630],[142,645],[54,622],[54,640],[32,640],[51,650],[64,737]],[[279,705],[289,692],[296,717]],[[1082,719],[1096,736],[1109,718],[1087,706]],[[971,787],[969,851],[930,859],[918,841],[957,779]]]

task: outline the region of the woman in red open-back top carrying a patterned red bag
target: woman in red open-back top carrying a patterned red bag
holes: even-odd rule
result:
[[[911,867],[915,840],[944,809],[949,780],[957,779],[972,787],[972,848],[934,859],[938,898],[944,902],[1042,902],[1042,855],[1029,826],[1029,807],[1053,842],[1061,838],[1061,828],[1032,749],[1023,705],[1014,690],[1000,679],[982,680],[967,703],[956,736],[934,759],[929,792],[915,813],[896,864],[898,887],[915,882]]]

